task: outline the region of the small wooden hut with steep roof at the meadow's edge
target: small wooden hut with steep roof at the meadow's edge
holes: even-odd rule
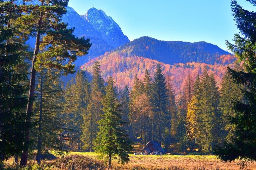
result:
[[[146,146],[142,148],[143,155],[156,155],[156,154],[163,154],[165,150],[161,147],[161,145],[157,141],[149,141]]]

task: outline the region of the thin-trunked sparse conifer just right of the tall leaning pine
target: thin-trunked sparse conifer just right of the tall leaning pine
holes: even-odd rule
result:
[[[49,150],[63,152],[65,145],[59,136],[63,129],[61,117],[64,112],[64,93],[60,76],[56,70],[44,70],[39,74],[38,88],[39,98],[35,102],[35,119],[38,126],[35,127],[35,139],[37,139],[37,162],[41,164],[41,154]]]

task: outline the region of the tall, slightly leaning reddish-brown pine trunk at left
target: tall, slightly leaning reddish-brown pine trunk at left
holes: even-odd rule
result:
[[[43,6],[44,1],[42,1],[41,6]],[[39,53],[39,45],[40,45],[40,36],[41,36],[41,26],[42,26],[42,19],[43,19],[43,12],[40,12],[39,22],[38,22],[38,31],[36,36],[36,45],[34,50],[34,55],[32,59],[32,68],[31,68],[31,77],[30,77],[30,89],[28,93],[28,102],[27,102],[27,119],[26,122],[29,124],[31,122],[31,114],[33,112],[33,100],[35,94],[35,85],[36,85],[36,69],[35,69],[35,62],[37,60],[37,54]],[[26,130],[26,137],[25,141],[28,142],[30,139],[30,128]],[[27,157],[28,157],[28,149],[24,150],[21,155],[20,166],[26,166],[27,164]]]

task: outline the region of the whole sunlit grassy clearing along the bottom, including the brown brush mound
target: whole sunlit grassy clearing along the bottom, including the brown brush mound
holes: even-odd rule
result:
[[[80,157],[79,157],[80,155]],[[73,156],[73,157],[72,157]],[[86,161],[82,159],[86,156]],[[95,152],[70,152],[68,156],[65,158],[70,157],[69,161],[63,160],[63,158],[58,158],[57,160],[52,161],[43,161],[42,165],[37,165],[36,161],[28,161],[28,167],[31,170],[34,169],[49,169],[49,170],[66,170],[72,168],[73,166],[75,170],[83,169],[80,164],[84,165],[88,169],[101,169],[100,167],[104,167],[104,163],[102,160],[99,160],[99,154]],[[130,162],[121,165],[118,163],[118,160],[115,159],[112,161],[112,169],[126,169],[126,170],[146,170],[146,169],[154,169],[154,170],[161,170],[161,169],[168,169],[168,170],[236,170],[240,169],[240,165],[238,165],[239,161],[236,160],[234,162],[222,163],[219,159],[217,159],[214,155],[134,155],[129,154]],[[90,159],[92,158],[92,159]],[[94,160],[94,161],[93,161]],[[96,161],[97,160],[97,161]],[[98,162],[99,161],[99,162]],[[13,160],[11,159],[7,164],[9,164],[9,168],[12,167],[11,164]],[[56,163],[57,162],[57,163]],[[89,162],[89,163],[88,163]],[[73,164],[73,165],[71,165]],[[79,164],[79,165],[78,165]],[[90,165],[87,165],[90,164]],[[29,168],[29,169],[30,169]],[[15,168],[13,168],[14,170]],[[16,168],[17,169],[17,168]],[[105,168],[103,168],[105,169]],[[249,170],[256,169],[256,163],[251,163],[247,168]],[[9,170],[12,170],[9,169]],[[23,169],[19,169],[23,170]]]

